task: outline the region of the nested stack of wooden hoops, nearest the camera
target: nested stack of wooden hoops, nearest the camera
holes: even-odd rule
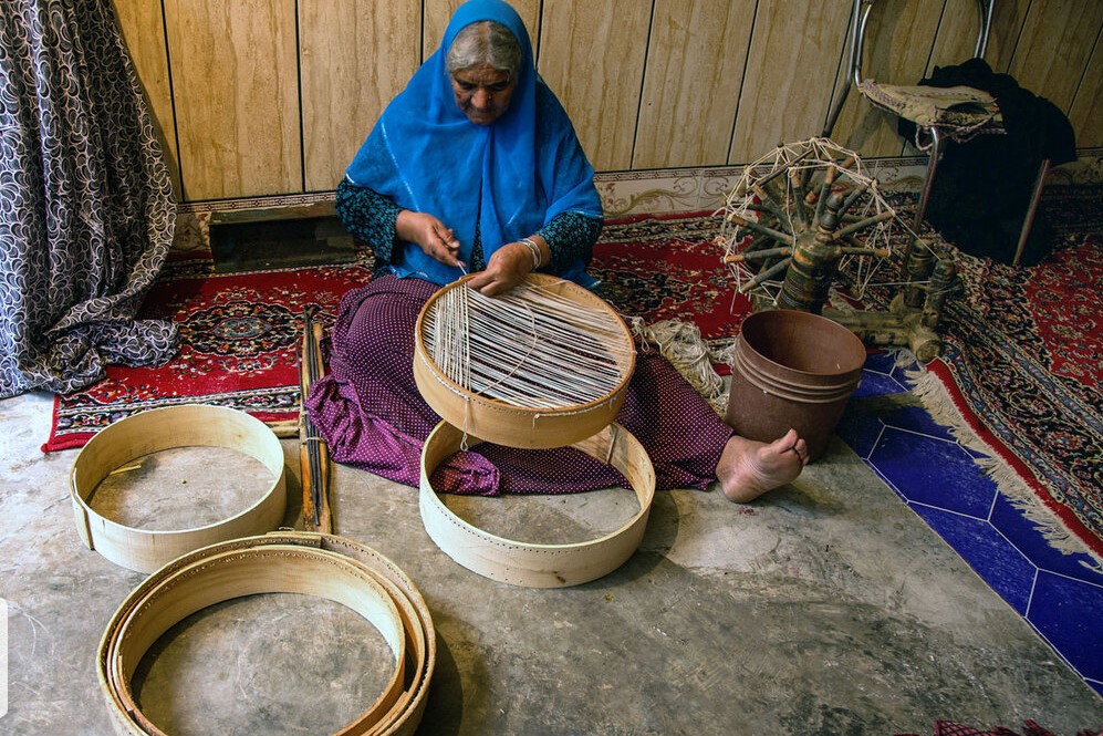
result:
[[[412,736],[425,713],[436,666],[436,634],[422,594],[375,550],[343,537],[273,532],[233,539],[164,566],[119,605],[100,642],[100,685],[119,736],[164,736],[131,691],[149,647],[188,615],[242,595],[305,593],[342,603],[387,640],[394,672],[383,694],[341,736]]]

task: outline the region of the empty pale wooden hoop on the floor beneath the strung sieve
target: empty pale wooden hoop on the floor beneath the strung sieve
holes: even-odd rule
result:
[[[441,422],[422,449],[418,506],[429,537],[448,557],[480,576],[524,588],[565,588],[596,580],[617,569],[639,547],[652,500],[655,468],[647,450],[632,434],[612,423],[596,435],[573,443],[620,470],[639,501],[639,511],[623,527],[590,541],[537,545],[503,539],[459,518],[445,506],[429,483],[433,471],[464,443],[464,433]],[[467,436],[467,444],[481,439]]]

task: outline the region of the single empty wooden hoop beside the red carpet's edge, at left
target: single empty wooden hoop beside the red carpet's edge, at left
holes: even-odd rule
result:
[[[263,498],[235,516],[192,529],[150,531],[101,516],[87,499],[128,460],[174,447],[229,447],[258,459],[275,481]],[[180,554],[215,542],[271,531],[287,509],[283,448],[260,419],[222,406],[168,406],[142,412],[106,427],[77,454],[69,474],[81,539],[115,564],[153,572]]]

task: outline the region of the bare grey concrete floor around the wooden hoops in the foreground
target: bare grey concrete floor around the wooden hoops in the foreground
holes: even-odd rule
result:
[[[44,394],[0,402],[10,634],[0,733],[106,735],[97,645],[143,577],[82,547],[66,488],[76,452],[39,449],[50,408]],[[296,498],[298,444],[283,444]],[[230,485],[256,486],[244,476]],[[1103,699],[837,439],[797,483],[752,505],[715,490],[660,493],[623,568],[561,590],[458,567],[426,536],[412,488],[337,467],[332,493],[336,530],[398,563],[433,611],[439,662],[420,734],[1103,726]],[[457,506],[502,533],[524,538],[523,524],[562,541],[615,525],[631,510],[623,500],[601,491]],[[332,733],[374,698],[387,666],[366,622],[295,595],[215,607],[153,654],[137,683],[143,708],[174,736]]]

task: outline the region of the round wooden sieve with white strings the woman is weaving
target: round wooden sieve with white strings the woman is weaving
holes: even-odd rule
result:
[[[512,447],[561,447],[620,411],[635,348],[602,299],[531,273],[506,294],[444,287],[422,309],[414,377],[441,418]]]

